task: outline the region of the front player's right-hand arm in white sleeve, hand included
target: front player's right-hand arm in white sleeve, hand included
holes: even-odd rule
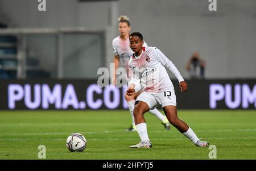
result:
[[[155,56],[156,59],[161,62],[162,65],[166,66],[169,70],[171,70],[172,73],[174,73],[175,77],[180,83],[180,91],[185,92],[188,89],[187,82],[184,81],[184,78],[181,76],[179,70],[176,68],[174,63],[172,63],[171,60],[169,60],[163,52],[161,52],[158,48],[155,48]]]

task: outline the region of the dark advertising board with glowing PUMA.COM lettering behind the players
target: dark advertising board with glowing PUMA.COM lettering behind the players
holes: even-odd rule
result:
[[[256,80],[188,80],[179,109],[256,109]],[[97,80],[1,80],[0,110],[127,109],[127,87],[100,87]]]

